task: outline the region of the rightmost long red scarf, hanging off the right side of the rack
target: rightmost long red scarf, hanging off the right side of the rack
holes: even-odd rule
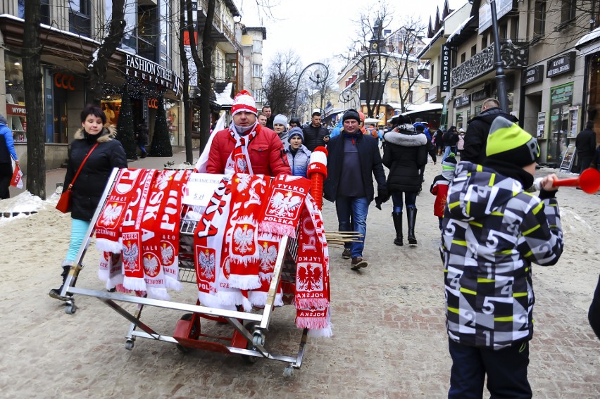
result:
[[[332,336],[329,253],[323,217],[313,198],[304,201],[296,259],[296,327],[310,336]]]

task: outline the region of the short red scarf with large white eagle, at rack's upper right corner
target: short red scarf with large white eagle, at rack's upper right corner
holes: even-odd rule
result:
[[[261,232],[294,237],[311,181],[300,176],[279,175],[273,179],[261,217]]]

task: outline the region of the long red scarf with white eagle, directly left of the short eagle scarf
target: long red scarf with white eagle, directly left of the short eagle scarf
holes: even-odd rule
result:
[[[229,254],[232,287],[250,290],[261,286],[258,278],[258,220],[270,179],[263,175],[236,173],[232,177],[230,217],[227,220],[226,246]]]

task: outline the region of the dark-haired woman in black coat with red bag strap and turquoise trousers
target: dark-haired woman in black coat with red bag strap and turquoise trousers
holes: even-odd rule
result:
[[[89,224],[94,217],[100,202],[104,187],[111,176],[113,167],[127,167],[125,149],[120,141],[115,139],[115,131],[104,127],[106,115],[97,106],[86,106],[81,113],[82,128],[75,133],[71,143],[71,152],[67,165],[67,173],[63,190],[66,190],[73,181],[83,160],[97,143],[98,146],[89,155],[75,184],[73,184],[73,205],[71,207],[71,239],[65,260],[63,261],[63,284],[69,273],[70,267],[77,257]],[[52,298],[65,300],[61,296],[63,286],[52,289]]]

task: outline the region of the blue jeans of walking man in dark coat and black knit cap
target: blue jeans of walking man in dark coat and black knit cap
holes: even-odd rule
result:
[[[353,242],[350,246],[351,257],[362,258],[367,235],[367,214],[369,213],[367,197],[337,197],[335,198],[335,210],[340,232],[358,232],[363,235],[358,242]],[[352,216],[352,226],[350,226],[350,216]]]

